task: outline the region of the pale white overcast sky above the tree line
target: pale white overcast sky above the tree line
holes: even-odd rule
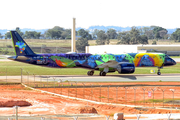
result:
[[[179,0],[0,0],[0,29],[180,27]]]

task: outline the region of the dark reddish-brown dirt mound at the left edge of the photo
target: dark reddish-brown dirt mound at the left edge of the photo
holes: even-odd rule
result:
[[[23,100],[1,100],[0,107],[13,107],[13,106],[31,106],[31,103]]]

